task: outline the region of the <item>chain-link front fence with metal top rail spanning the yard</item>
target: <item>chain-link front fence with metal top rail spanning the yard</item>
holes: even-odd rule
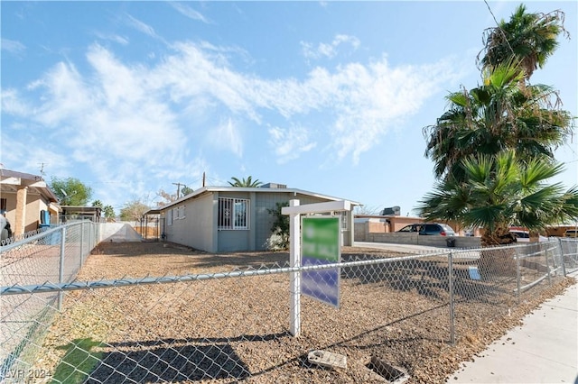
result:
[[[232,256],[185,248],[175,256],[166,245],[142,245],[154,254],[142,258],[126,251],[107,258],[97,248],[91,259],[106,272],[88,263],[82,282],[29,271],[3,284],[0,300],[10,312],[0,324],[3,379],[395,381],[560,282],[563,261],[575,261],[564,253],[575,242],[554,241],[411,256],[361,251],[339,264],[294,268],[240,254],[231,270]],[[135,263],[139,271],[151,263],[153,276],[181,273],[135,277]],[[303,297],[302,332],[292,336],[290,274],[336,267],[339,308]],[[310,352],[322,367],[346,361],[347,370],[318,369]],[[346,360],[331,361],[335,356]]]

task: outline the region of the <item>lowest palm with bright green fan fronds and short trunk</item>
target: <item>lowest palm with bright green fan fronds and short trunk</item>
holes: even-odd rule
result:
[[[543,158],[517,159],[515,151],[496,155],[471,155],[461,160],[467,181],[444,179],[426,194],[418,211],[427,220],[457,221],[481,227],[482,246],[514,242],[510,225],[544,231],[578,215],[578,189],[564,192],[560,183],[546,180],[563,167]]]

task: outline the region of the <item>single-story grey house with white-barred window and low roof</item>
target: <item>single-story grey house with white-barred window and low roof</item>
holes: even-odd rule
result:
[[[169,242],[212,253],[262,251],[275,220],[267,210],[292,199],[298,199],[300,206],[342,200],[273,183],[262,187],[201,187],[154,212],[161,215],[161,230]],[[351,209],[359,206],[350,203]],[[353,244],[351,214],[339,213],[343,245]]]

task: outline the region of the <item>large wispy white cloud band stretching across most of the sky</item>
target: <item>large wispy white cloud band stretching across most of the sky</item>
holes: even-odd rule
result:
[[[3,113],[30,117],[66,138],[62,145],[76,160],[107,178],[147,178],[186,167],[195,140],[242,158],[247,134],[268,134],[278,162],[295,160],[321,145],[303,128],[312,118],[324,122],[316,132],[322,150],[359,161],[452,77],[447,63],[392,68],[384,58],[270,80],[235,69],[228,55],[238,53],[175,43],[149,67],[92,45],[88,72],[61,62],[31,83],[34,97],[3,91]],[[215,124],[223,115],[230,117]],[[249,122],[250,131],[239,128]],[[278,128],[284,125],[291,128]]]

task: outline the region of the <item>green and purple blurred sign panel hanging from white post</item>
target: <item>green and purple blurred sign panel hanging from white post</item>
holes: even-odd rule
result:
[[[302,265],[339,263],[340,218],[303,217]],[[340,269],[303,271],[301,293],[331,306],[340,305]]]

